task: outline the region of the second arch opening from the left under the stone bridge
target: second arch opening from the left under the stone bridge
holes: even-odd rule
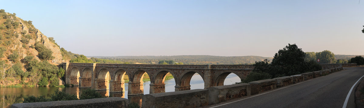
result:
[[[82,72],[80,78],[80,88],[91,87],[92,70],[90,68],[85,68]]]

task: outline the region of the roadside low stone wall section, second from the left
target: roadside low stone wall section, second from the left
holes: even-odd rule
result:
[[[209,90],[153,93],[143,95],[142,108],[194,108],[209,105]]]

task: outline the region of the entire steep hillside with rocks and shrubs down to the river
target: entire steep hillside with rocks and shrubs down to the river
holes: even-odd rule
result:
[[[55,81],[62,78],[56,65],[75,56],[60,48],[52,37],[41,33],[32,21],[0,10],[0,87],[14,84],[33,86],[43,77],[46,81],[51,78]]]

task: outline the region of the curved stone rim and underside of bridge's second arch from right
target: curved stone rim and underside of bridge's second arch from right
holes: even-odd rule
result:
[[[176,84],[175,91],[190,90],[190,81],[195,73],[198,73],[202,77],[202,80],[205,82],[205,79],[201,72],[196,70],[186,70],[181,74],[182,77],[179,79],[178,84]]]

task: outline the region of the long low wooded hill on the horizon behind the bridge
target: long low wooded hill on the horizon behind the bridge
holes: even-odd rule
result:
[[[209,55],[181,55],[181,56],[87,56],[108,60],[118,60],[124,63],[158,64],[160,60],[174,60],[183,64],[253,64],[269,57],[261,56],[209,56]]]

